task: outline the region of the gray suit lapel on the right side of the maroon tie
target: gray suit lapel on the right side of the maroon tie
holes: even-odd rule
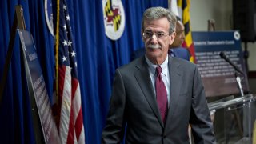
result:
[[[175,109],[178,107],[178,96],[182,88],[182,70],[179,70],[180,64],[174,58],[169,57],[168,67],[170,74],[170,106],[168,109],[166,126],[170,123]]]

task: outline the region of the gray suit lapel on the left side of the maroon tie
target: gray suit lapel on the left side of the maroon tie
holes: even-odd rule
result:
[[[138,65],[136,66],[138,68],[138,71],[134,73],[134,77],[137,79],[138,85],[142,89],[146,101],[149,103],[152,111],[154,112],[154,115],[158,118],[158,122],[160,122],[161,126],[163,127],[164,125],[158,110],[154,89],[150,79],[150,73],[147,69],[146,58],[143,57],[142,61],[140,62],[141,63],[138,63]]]

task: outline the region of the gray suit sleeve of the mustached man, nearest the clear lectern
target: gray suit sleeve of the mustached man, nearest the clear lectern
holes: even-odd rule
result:
[[[206,94],[198,68],[195,67],[193,78],[192,108],[190,126],[195,143],[216,143],[210,111],[206,102]]]

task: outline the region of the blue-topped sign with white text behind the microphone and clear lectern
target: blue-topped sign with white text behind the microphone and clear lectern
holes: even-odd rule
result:
[[[242,88],[249,90],[238,31],[193,32],[196,62],[206,89],[206,97],[239,94],[235,70],[219,54],[224,52],[242,70]]]

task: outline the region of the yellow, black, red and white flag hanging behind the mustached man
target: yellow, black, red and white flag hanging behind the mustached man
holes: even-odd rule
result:
[[[177,1],[177,2],[176,2]],[[190,50],[190,62],[195,62],[194,43],[192,39],[191,26],[190,26],[190,0],[169,0],[170,9],[174,14],[178,15],[185,26],[185,42],[182,47]],[[177,5],[178,9],[175,8]],[[178,10],[178,11],[177,11]]]

